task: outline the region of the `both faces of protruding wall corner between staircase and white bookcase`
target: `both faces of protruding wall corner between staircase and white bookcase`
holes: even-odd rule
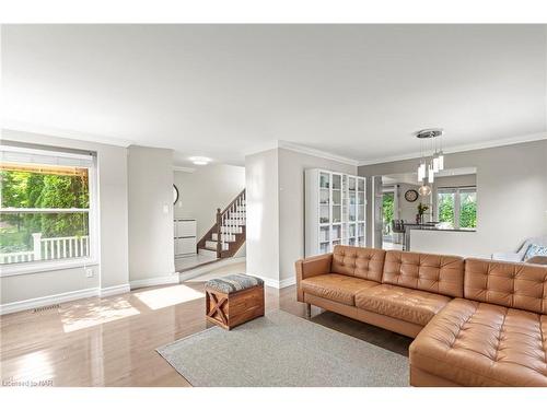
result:
[[[294,262],[304,256],[306,168],[357,174],[357,166],[288,149],[245,157],[247,272],[270,285],[293,283]]]

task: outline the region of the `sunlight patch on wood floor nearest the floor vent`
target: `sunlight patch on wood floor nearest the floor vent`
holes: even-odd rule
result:
[[[85,329],[140,314],[128,301],[119,297],[101,303],[75,305],[61,313],[65,332]]]

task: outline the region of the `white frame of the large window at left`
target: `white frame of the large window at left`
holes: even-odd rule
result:
[[[89,208],[0,208],[1,213],[37,213],[37,212],[57,212],[57,213],[73,213],[73,212],[86,212],[88,213],[88,226],[89,226],[89,246],[90,254],[85,257],[77,258],[63,258],[63,259],[49,259],[49,260],[37,260],[30,262],[14,262],[14,263],[3,263],[0,265],[0,278],[12,277],[19,274],[32,274],[39,272],[47,272],[53,270],[63,270],[72,268],[81,268],[88,266],[95,266],[100,262],[98,253],[98,189],[97,189],[97,156],[95,153],[85,152],[67,152],[62,149],[51,148],[49,149],[32,149],[12,145],[2,145],[0,151],[15,152],[21,154],[36,154],[55,156],[61,159],[85,159],[90,160],[91,164],[78,165],[79,167],[88,168],[88,180],[89,180]],[[23,162],[23,161],[21,161]],[[33,212],[34,211],[34,212]]]

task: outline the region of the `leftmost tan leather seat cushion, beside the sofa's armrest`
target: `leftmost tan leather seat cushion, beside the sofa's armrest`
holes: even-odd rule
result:
[[[304,279],[302,290],[315,296],[354,306],[356,293],[368,288],[379,286],[380,283],[346,274],[328,273]]]

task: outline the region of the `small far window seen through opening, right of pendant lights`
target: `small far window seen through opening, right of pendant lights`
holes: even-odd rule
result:
[[[474,230],[477,227],[477,188],[439,188],[437,190],[439,222],[447,227]]]

